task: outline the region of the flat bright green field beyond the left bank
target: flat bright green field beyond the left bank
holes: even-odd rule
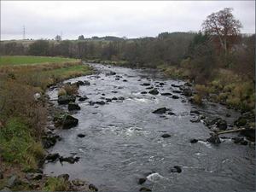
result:
[[[60,63],[79,61],[76,59],[49,56],[25,56],[25,55],[6,55],[0,56],[0,67],[9,65],[33,65],[42,63]]]

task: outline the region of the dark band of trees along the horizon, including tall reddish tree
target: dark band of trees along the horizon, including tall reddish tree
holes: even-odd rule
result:
[[[1,55],[65,56],[83,60],[127,61],[130,66],[189,68],[189,78],[204,82],[214,69],[229,68],[254,80],[255,34],[242,36],[241,22],[226,8],[201,25],[200,32],[162,32],[155,38],[84,38],[1,44]]]

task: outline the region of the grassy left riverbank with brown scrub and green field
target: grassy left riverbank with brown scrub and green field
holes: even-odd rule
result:
[[[65,58],[9,56],[1,63],[0,189],[67,189],[57,187],[64,178],[44,177],[41,170],[46,155],[41,141],[49,108],[45,90],[64,79],[91,73],[92,68],[82,61]]]

